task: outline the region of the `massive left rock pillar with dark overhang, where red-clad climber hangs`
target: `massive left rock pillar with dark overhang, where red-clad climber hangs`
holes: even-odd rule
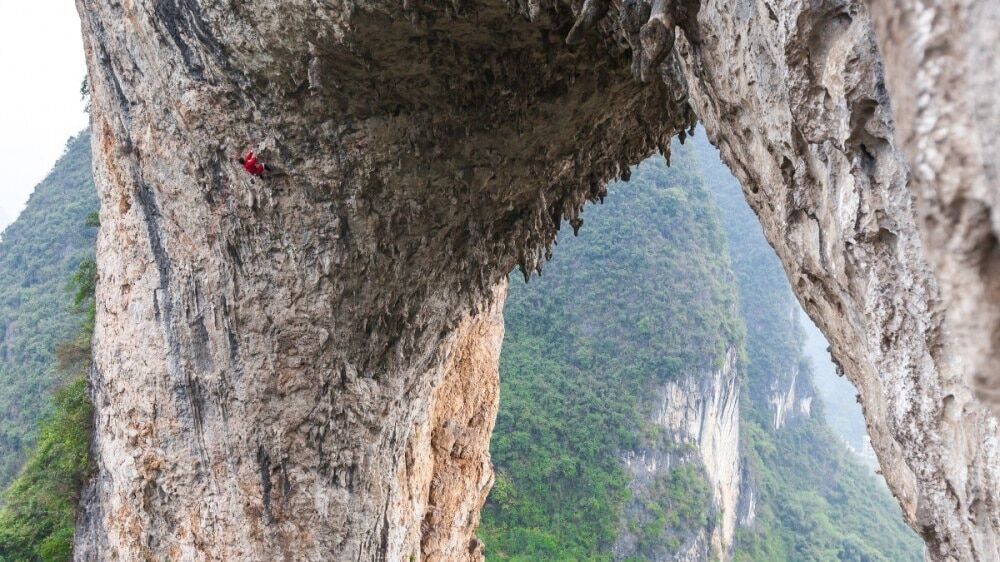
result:
[[[433,403],[456,327],[690,108],[554,8],[78,6],[103,226],[76,558],[465,556],[493,410]]]

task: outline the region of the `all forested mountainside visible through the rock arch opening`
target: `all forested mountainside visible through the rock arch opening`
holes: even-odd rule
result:
[[[828,429],[798,304],[702,143],[697,155],[675,144],[673,167],[654,159],[611,186],[541,278],[512,277],[487,558],[919,559],[895,501]],[[725,422],[712,412],[729,349],[740,350],[738,446],[702,435]],[[691,377],[709,382],[664,392]],[[665,422],[678,416],[698,433]],[[652,442],[668,470],[651,468]],[[739,449],[735,506],[719,493],[726,446]],[[655,484],[636,485],[644,470]],[[732,545],[719,532],[726,516],[738,518]],[[695,548],[699,534],[712,537],[708,551]]]

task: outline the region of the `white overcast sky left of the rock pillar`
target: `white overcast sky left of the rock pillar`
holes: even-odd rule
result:
[[[73,0],[0,0],[0,227],[87,126]]]

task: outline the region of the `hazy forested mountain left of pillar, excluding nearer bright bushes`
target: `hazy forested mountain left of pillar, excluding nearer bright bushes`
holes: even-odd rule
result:
[[[38,421],[51,411],[62,378],[58,348],[82,322],[67,284],[93,256],[87,217],[97,206],[84,132],[69,140],[0,239],[0,486],[22,465]]]

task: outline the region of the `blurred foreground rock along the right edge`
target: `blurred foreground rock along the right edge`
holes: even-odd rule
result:
[[[1000,414],[1000,4],[869,4],[947,329]]]

